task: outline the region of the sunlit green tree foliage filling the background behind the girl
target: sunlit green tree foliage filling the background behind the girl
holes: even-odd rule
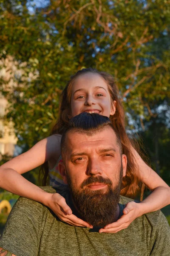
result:
[[[127,130],[170,183],[170,1],[0,0],[0,91],[26,151],[57,119],[59,94],[82,67],[117,79]],[[12,67],[8,62],[12,61]],[[15,67],[15,70],[14,70]]]

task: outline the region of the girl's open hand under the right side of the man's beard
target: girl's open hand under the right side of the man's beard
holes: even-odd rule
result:
[[[139,203],[135,203],[133,201],[127,203],[123,210],[123,215],[116,222],[101,228],[99,233],[117,233],[120,230],[127,228],[132,221],[142,215],[139,205]]]

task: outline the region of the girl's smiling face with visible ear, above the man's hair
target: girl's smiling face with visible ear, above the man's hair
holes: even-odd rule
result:
[[[110,116],[115,113],[115,102],[111,102],[108,85],[99,74],[86,73],[78,76],[71,93],[71,113],[99,113]]]

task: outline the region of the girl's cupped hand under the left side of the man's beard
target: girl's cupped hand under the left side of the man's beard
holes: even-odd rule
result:
[[[64,221],[72,226],[93,228],[92,225],[72,214],[71,208],[65,202],[65,198],[58,193],[50,194],[48,204],[45,205],[48,206],[61,221]]]

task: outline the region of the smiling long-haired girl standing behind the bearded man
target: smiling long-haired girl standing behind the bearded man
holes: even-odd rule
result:
[[[69,119],[82,112],[94,112],[110,117],[114,128],[120,134],[123,153],[127,156],[127,174],[123,180],[121,195],[135,196],[140,189],[139,184],[142,183],[153,190],[152,194],[141,203],[128,203],[124,209],[124,215],[100,232],[116,233],[128,227],[142,214],[156,211],[170,204],[169,186],[144,163],[127,137],[124,111],[113,77],[91,68],[78,71],[63,90],[59,119],[53,128],[52,135],[0,167],[0,187],[50,207],[62,221],[68,224],[91,227],[72,214],[61,195],[47,193],[21,176],[48,162],[48,170],[44,173],[44,184],[47,183],[48,174],[51,186],[64,184],[57,168],[61,160],[60,140]]]

